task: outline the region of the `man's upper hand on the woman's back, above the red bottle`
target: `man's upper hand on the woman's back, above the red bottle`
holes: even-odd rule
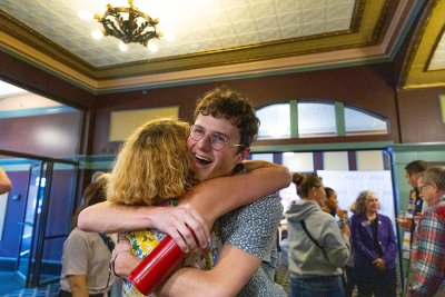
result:
[[[207,248],[210,240],[206,221],[187,202],[178,207],[158,207],[154,214],[152,227],[171,236],[184,253]]]

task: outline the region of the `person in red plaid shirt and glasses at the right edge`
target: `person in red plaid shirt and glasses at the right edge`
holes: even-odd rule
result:
[[[426,204],[411,251],[412,297],[445,296],[445,169],[431,167],[417,180]]]

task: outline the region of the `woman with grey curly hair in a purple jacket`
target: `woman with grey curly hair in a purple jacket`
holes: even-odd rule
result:
[[[395,297],[397,242],[392,221],[378,214],[378,198],[372,191],[362,191],[356,207],[350,236],[358,296]]]

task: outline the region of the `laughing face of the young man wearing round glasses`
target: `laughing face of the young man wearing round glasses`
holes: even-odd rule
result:
[[[195,125],[205,131],[204,138],[199,141],[188,138],[188,146],[196,160],[198,178],[202,181],[233,175],[235,166],[245,159],[249,149],[238,152],[238,147],[226,145],[221,150],[215,150],[210,146],[210,136],[219,133],[225,136],[230,143],[238,145],[239,129],[227,119],[204,115],[196,118]]]

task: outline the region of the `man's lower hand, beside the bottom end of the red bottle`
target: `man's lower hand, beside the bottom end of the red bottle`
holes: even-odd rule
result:
[[[128,278],[128,275],[140,261],[141,259],[131,254],[130,241],[125,236],[119,235],[119,241],[111,255],[111,268],[113,273],[121,278]]]

